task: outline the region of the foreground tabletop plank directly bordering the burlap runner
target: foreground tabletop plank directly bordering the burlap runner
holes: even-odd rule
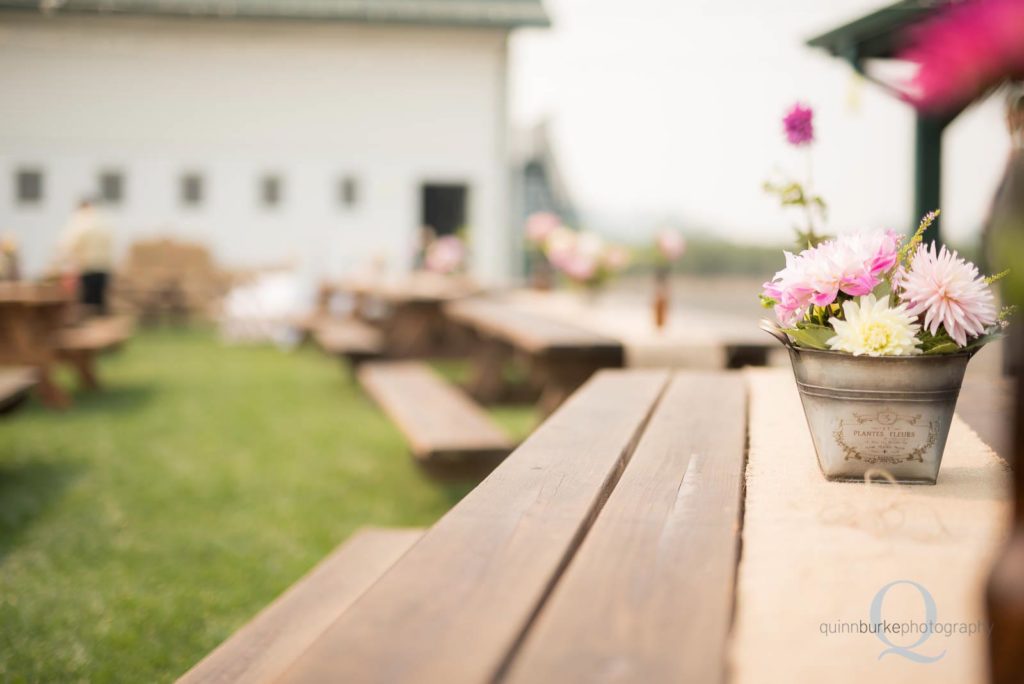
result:
[[[745,396],[738,374],[675,377],[509,681],[724,680]]]

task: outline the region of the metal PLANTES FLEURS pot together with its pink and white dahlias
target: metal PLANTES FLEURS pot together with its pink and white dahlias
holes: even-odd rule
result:
[[[967,364],[1000,334],[991,285],[946,247],[893,231],[841,236],[785,253],[765,283],[762,328],[788,349],[818,463],[828,479],[934,483]]]

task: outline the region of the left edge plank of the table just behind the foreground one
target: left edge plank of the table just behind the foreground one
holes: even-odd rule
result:
[[[521,311],[500,301],[469,299],[449,304],[444,311],[453,320],[531,354],[586,355],[605,359],[607,367],[623,365],[621,342],[560,320]]]

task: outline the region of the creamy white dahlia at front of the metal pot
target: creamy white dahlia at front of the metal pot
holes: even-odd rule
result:
[[[874,295],[864,295],[843,304],[845,320],[831,319],[836,337],[828,340],[828,347],[848,351],[854,356],[909,356],[920,354],[914,316],[907,313],[906,305],[889,306],[889,300],[877,300]]]

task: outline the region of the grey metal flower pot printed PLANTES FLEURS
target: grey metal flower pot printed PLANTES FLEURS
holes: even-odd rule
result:
[[[935,484],[973,351],[872,357],[786,346],[826,478],[863,481],[874,470]]]

